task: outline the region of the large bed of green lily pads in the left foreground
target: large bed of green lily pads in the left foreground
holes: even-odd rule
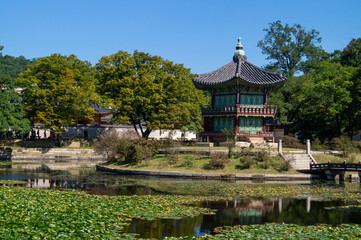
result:
[[[76,191],[0,187],[1,239],[124,239],[132,218],[210,214],[192,196],[96,196]]]

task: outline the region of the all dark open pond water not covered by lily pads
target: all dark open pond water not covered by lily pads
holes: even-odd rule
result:
[[[1,179],[22,180],[23,183],[20,185],[30,188],[77,189],[97,195],[202,194],[199,189],[192,192],[187,188],[199,184],[199,181],[119,176],[96,172],[94,167],[73,164],[3,166],[0,169]],[[185,187],[179,189],[170,187],[174,186],[174,183]],[[206,182],[206,184],[213,183],[218,183],[218,181]],[[242,182],[242,184],[254,183]],[[133,219],[124,232],[137,233],[144,238],[164,238],[166,236],[213,234],[216,227],[239,224],[271,222],[299,225],[360,224],[360,212],[332,209],[332,207],[351,204],[355,203],[342,200],[326,201],[307,196],[303,198],[273,197],[207,201],[198,203],[197,206],[217,210],[214,215],[198,215],[181,219]]]

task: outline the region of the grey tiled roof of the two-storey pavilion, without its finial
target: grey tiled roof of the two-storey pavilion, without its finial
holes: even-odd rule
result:
[[[281,75],[268,72],[249,63],[245,56],[238,56],[234,57],[232,62],[213,72],[197,75],[193,81],[202,85],[218,85],[233,79],[241,79],[251,85],[275,85],[286,80]]]

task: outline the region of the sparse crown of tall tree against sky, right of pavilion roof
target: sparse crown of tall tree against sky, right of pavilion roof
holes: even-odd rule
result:
[[[291,77],[309,71],[313,62],[327,58],[318,46],[321,42],[319,32],[314,29],[307,31],[299,24],[291,27],[278,20],[264,31],[265,38],[258,42],[258,47],[267,55],[266,59],[274,60],[266,66],[268,70]]]

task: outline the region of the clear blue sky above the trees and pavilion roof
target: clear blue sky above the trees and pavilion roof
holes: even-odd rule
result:
[[[360,9],[360,0],[3,0],[0,45],[12,56],[75,54],[93,64],[137,49],[205,73],[232,60],[238,36],[248,60],[265,65],[257,42],[277,20],[319,31],[328,52],[343,49],[361,37]]]

